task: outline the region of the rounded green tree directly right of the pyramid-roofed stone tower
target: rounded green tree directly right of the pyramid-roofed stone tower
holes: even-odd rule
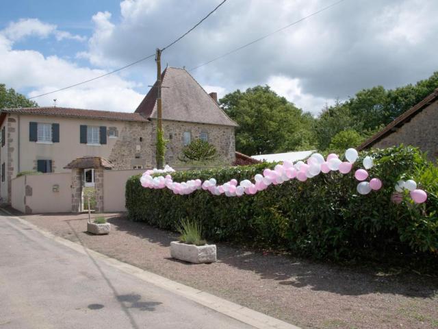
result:
[[[235,143],[244,154],[269,154],[300,149],[303,143],[315,144],[313,117],[303,114],[269,86],[236,90],[220,99],[221,108],[237,122]],[[297,132],[304,132],[299,138]]]

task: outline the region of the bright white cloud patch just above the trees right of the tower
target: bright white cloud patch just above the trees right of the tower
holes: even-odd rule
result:
[[[285,97],[298,108],[306,112],[317,115],[321,112],[326,104],[335,103],[335,99],[326,99],[324,97],[315,97],[311,94],[304,93],[299,79],[291,79],[283,75],[274,75],[269,77],[267,84],[280,96]]]

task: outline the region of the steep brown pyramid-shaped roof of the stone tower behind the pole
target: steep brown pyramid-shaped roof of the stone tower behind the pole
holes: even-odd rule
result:
[[[184,69],[166,68],[162,73],[163,119],[214,125],[237,124]],[[157,118],[157,82],[138,106],[136,113]]]

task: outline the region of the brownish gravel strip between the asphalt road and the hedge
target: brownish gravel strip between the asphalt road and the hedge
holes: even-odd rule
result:
[[[87,215],[22,215],[90,249],[302,328],[438,328],[438,279],[342,268],[219,243],[218,263],[170,258],[176,235],[106,214],[107,236],[86,233]]]

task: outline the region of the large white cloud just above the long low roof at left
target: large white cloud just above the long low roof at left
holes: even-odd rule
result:
[[[12,49],[12,42],[1,35],[0,61],[0,81],[16,90],[29,89],[29,97],[107,72],[80,67],[57,56],[44,57],[38,51]],[[144,97],[134,90],[138,86],[138,83],[114,74],[35,100],[40,106],[53,106],[53,99],[56,98],[57,106],[133,112]]]

